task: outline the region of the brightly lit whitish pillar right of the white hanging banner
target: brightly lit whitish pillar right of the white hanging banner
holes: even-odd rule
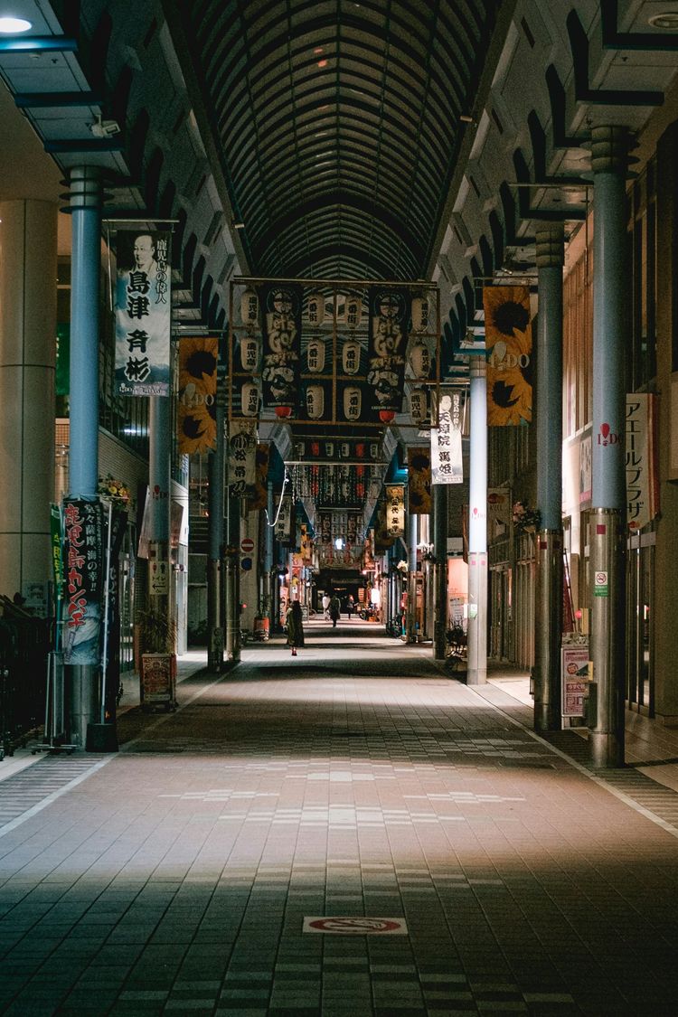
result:
[[[470,360],[469,630],[467,683],[487,681],[487,364]]]

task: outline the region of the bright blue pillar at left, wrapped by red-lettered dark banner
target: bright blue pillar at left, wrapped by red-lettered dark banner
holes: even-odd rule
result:
[[[90,166],[70,171],[71,295],[68,487],[72,497],[97,498],[99,474],[99,277],[102,182]],[[100,719],[95,664],[65,668],[68,740],[84,746],[87,725]]]

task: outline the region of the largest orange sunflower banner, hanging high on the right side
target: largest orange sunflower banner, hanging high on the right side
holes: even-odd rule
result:
[[[530,287],[486,286],[487,422],[489,426],[532,420],[532,325]]]

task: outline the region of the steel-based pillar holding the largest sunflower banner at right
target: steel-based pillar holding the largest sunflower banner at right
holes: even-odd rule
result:
[[[537,231],[537,535],[535,730],[561,726],[560,645],[563,603],[562,339],[564,229]]]

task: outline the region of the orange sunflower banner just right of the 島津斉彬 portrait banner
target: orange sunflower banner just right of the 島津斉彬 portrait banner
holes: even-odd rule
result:
[[[177,432],[182,455],[208,452],[217,443],[218,357],[215,338],[179,343]]]

